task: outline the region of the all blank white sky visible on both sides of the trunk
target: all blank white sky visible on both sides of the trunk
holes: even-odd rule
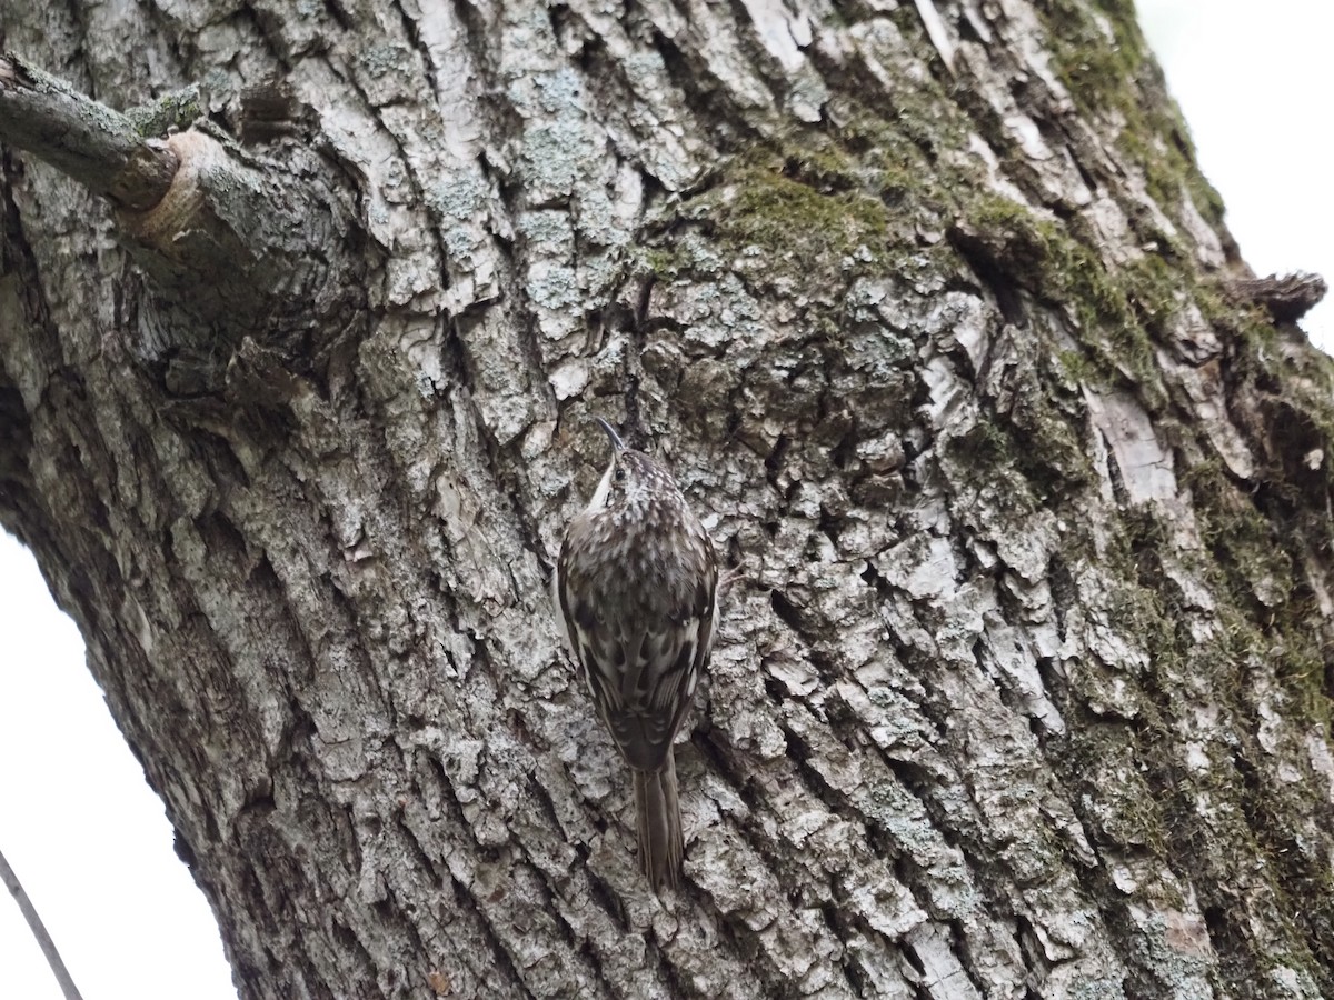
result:
[[[1205,173],[1258,275],[1334,280],[1325,0],[1139,0]],[[1329,303],[1303,327],[1334,348]],[[32,556],[0,533],[0,851],[84,1000],[235,1000],[212,915]],[[8,893],[0,997],[60,1000]]]

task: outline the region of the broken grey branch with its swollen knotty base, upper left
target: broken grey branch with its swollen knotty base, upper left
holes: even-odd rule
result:
[[[115,205],[123,243],[161,312],[184,313],[177,343],[251,336],[281,345],[348,307],[350,213],[319,157],[288,149],[281,165],[244,156],[200,129],[141,136],[129,117],[0,55],[0,143],[25,149]]]

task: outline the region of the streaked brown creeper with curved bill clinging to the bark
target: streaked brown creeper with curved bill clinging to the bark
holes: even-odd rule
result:
[[[672,739],[708,663],[718,620],[714,544],[671,473],[611,437],[611,464],[566,529],[558,621],[635,779],[639,867],[680,883],[684,840]]]

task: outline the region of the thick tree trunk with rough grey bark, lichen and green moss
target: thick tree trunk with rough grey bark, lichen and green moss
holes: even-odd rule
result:
[[[0,523],[244,997],[1334,995],[1334,380],[1129,0],[0,35],[201,88],[175,212],[0,117]],[[592,415],[739,569],[660,903],[547,603]]]

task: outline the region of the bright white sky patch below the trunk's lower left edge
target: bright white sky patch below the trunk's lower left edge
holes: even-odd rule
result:
[[[236,1000],[217,924],[32,553],[0,531],[0,851],[84,1000]],[[0,891],[0,997],[61,1000]]]

